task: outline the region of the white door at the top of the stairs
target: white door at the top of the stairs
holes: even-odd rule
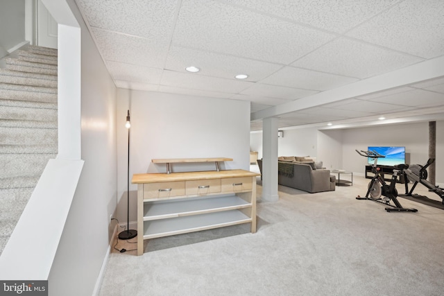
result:
[[[57,49],[57,22],[42,1],[37,1],[37,45]]]

